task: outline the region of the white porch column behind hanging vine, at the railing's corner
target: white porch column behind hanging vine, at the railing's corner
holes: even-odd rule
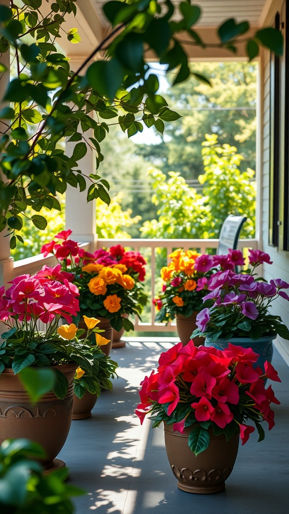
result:
[[[74,71],[82,64],[85,58],[70,57],[70,67]],[[90,131],[89,131],[90,132]],[[86,138],[93,137],[91,134],[86,133]],[[66,142],[66,154],[72,155],[74,147],[77,143]],[[79,169],[83,174],[89,175],[95,173],[95,155],[94,152],[87,148],[86,155],[78,161]],[[87,183],[87,188],[90,183]],[[66,190],[66,203],[65,203],[65,228],[73,231],[72,238],[78,242],[89,242],[90,251],[96,250],[97,235],[96,235],[96,201],[92,200],[87,203],[86,191],[80,192],[79,189],[71,186]]]

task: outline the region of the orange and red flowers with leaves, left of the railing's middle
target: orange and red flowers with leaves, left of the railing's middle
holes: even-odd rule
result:
[[[71,241],[70,235],[71,230],[60,232],[42,247],[42,253],[52,252],[63,270],[74,273],[80,314],[108,318],[117,331],[122,327],[133,330],[133,323],[122,315],[139,316],[147,303],[141,283],[146,274],[145,259],[121,245],[88,253]]]

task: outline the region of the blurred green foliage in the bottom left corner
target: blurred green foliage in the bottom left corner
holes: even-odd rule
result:
[[[44,474],[32,460],[45,456],[38,443],[6,439],[0,448],[0,508],[2,514],[72,514],[71,496],[84,494],[67,484],[67,468]]]

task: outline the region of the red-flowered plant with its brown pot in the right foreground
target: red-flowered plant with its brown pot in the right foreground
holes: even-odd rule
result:
[[[160,355],[157,371],[141,382],[136,414],[141,423],[149,414],[153,427],[164,422],[166,449],[180,489],[224,489],[239,438],[245,444],[255,430],[247,422],[255,424],[259,441],[264,438],[262,421],[269,430],[274,427],[270,404],[280,402],[271,386],[265,389],[264,380],[280,378],[269,362],[264,373],[254,367],[257,358],[251,348],[230,343],[224,351],[195,347],[193,341],[178,343]]]

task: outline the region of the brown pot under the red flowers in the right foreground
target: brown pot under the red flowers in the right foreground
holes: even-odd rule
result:
[[[225,480],[230,475],[238,454],[239,434],[226,442],[225,435],[211,435],[208,448],[197,456],[188,446],[191,430],[185,433],[173,431],[172,425],[164,426],[168,460],[177,478],[177,487],[195,494],[211,494],[225,489]]]

